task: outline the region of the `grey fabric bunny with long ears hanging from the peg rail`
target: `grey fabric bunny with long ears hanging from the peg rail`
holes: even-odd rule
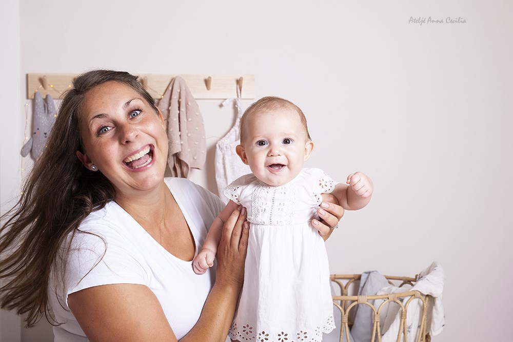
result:
[[[26,157],[32,151],[32,158],[37,159],[43,153],[46,138],[55,122],[55,105],[53,98],[46,95],[46,103],[40,92],[34,94],[34,132],[22,148],[22,156]]]

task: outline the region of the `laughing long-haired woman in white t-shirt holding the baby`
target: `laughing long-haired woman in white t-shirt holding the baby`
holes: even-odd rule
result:
[[[136,76],[78,76],[3,217],[2,307],[27,313],[28,326],[45,314],[57,341],[224,340],[243,282],[245,209],[225,224],[215,275],[195,275],[192,259],[223,204],[164,178],[167,152],[164,118]],[[328,236],[343,209],[321,213]]]

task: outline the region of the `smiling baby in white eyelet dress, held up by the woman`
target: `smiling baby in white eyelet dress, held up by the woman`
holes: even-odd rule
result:
[[[247,208],[249,244],[233,340],[322,341],[335,327],[324,240],[310,222],[321,193],[357,210],[369,203],[373,185],[361,172],[346,185],[320,169],[303,169],[312,149],[306,118],[288,100],[261,98],[241,118],[236,152],[252,173],[225,189],[230,201],[193,261],[198,274],[211,267],[224,222],[234,208]]]

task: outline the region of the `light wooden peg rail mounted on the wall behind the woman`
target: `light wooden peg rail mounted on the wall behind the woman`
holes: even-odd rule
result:
[[[241,88],[241,97],[255,97],[255,79],[253,74],[140,74],[139,80],[154,97],[161,98],[169,83],[180,75],[196,99],[224,99],[236,97],[236,87]],[[42,96],[50,94],[57,99],[71,87],[76,74],[66,73],[29,73],[27,74],[27,98],[34,98],[35,91]]]

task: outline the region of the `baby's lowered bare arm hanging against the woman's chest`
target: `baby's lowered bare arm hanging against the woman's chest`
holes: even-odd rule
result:
[[[218,250],[219,241],[221,240],[223,226],[237,207],[239,207],[239,205],[230,200],[219,215],[215,217],[205,238],[203,248],[192,261],[192,268],[196,274],[203,274],[209,267],[214,265],[215,253]]]

